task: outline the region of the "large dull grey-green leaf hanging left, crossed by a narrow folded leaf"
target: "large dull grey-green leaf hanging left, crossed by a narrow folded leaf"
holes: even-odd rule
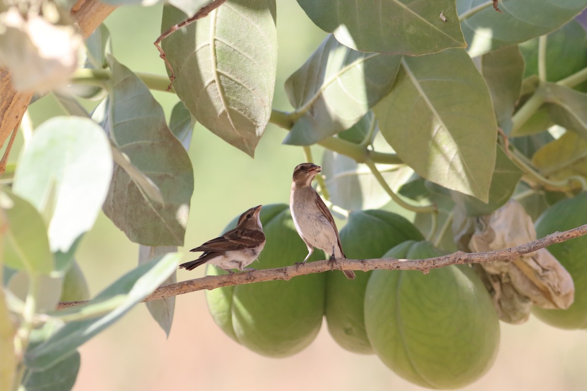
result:
[[[141,175],[130,176],[129,167],[117,165],[104,213],[135,243],[181,245],[194,191],[190,158],[167,127],[163,108],[147,86],[113,57],[109,63],[113,81],[107,115],[110,137],[125,158],[160,189],[164,203],[143,192],[150,183],[137,182]]]

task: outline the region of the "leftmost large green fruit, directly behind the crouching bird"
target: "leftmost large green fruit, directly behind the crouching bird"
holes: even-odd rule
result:
[[[308,254],[295,230],[288,205],[261,209],[266,244],[251,267],[284,267]],[[227,229],[234,227],[228,226]],[[309,259],[323,259],[316,251]],[[207,274],[225,274],[209,265]],[[246,272],[241,272],[246,273]],[[267,281],[207,291],[214,321],[239,344],[264,356],[285,357],[301,351],[318,334],[324,314],[325,276],[310,274],[290,281]]]

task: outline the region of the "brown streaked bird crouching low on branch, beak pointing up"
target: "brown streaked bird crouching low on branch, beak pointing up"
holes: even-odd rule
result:
[[[259,219],[261,208],[262,205],[258,205],[247,210],[238,217],[235,229],[191,249],[190,251],[204,251],[204,253],[198,259],[182,263],[179,267],[193,270],[204,263],[210,263],[228,271],[231,275],[234,273],[232,268],[237,268],[239,271],[255,270],[245,266],[256,260],[265,247],[265,233]]]

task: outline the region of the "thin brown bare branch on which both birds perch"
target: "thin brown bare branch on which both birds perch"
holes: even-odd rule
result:
[[[487,251],[486,253],[464,253],[457,251],[446,256],[427,258],[427,259],[345,259],[338,260],[335,265],[331,265],[328,260],[308,262],[303,264],[294,264],[287,267],[278,267],[272,269],[249,271],[245,273],[234,273],[232,275],[224,274],[222,276],[206,276],[195,278],[194,280],[181,281],[180,283],[165,285],[157,288],[143,301],[159,300],[166,297],[177,296],[184,293],[190,293],[200,290],[212,290],[220,287],[232,285],[260,283],[262,281],[274,280],[291,280],[291,278],[303,276],[305,274],[322,273],[329,270],[361,270],[369,271],[376,269],[387,270],[420,270],[427,274],[430,269],[450,266],[454,264],[470,264],[492,262],[497,260],[514,260],[524,254],[532,253],[554,243],[566,242],[566,240],[587,234],[587,225],[570,229],[565,232],[555,232],[542,239],[535,240],[517,247],[510,247],[505,250]],[[85,304],[87,301],[68,301],[60,302],[58,310],[61,308],[73,307],[79,304]]]

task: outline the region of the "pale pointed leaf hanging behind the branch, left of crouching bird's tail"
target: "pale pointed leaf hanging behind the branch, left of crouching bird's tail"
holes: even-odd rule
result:
[[[177,252],[176,246],[149,247],[141,245],[139,246],[139,265],[147,263],[155,257],[175,252]],[[176,282],[177,273],[174,271],[171,273],[171,276],[167,277],[167,280],[161,283],[161,285],[175,284]],[[171,323],[173,322],[173,311],[176,307],[176,297],[171,296],[161,300],[147,301],[145,304],[147,305],[151,317],[157,321],[167,335],[167,338],[169,338]]]

